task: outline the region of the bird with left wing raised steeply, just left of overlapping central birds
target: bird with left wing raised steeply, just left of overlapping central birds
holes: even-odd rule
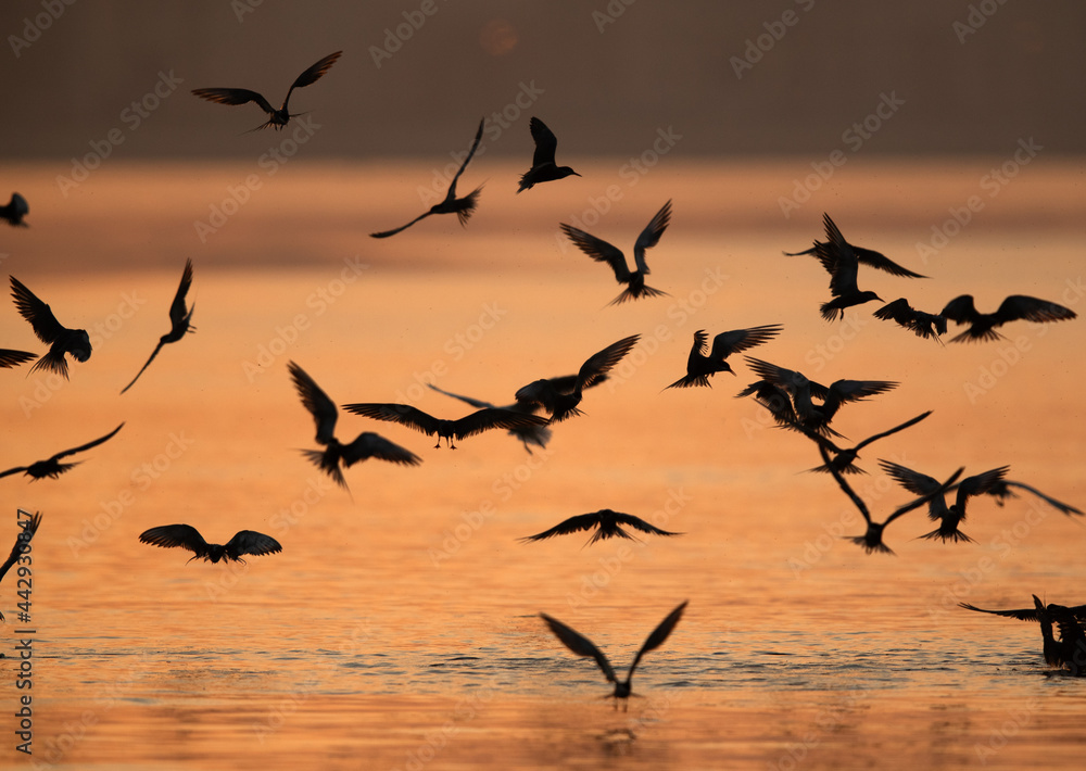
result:
[[[368,458],[379,458],[404,466],[417,466],[422,463],[422,458],[415,453],[371,431],[359,433],[350,444],[341,444],[334,435],[338,417],[336,404],[328,397],[328,394],[320,390],[316,381],[294,362],[288,362],[287,369],[294,381],[294,389],[298,391],[302,404],[313,415],[313,420],[317,425],[316,441],[318,444],[325,445],[323,451],[303,450],[302,454],[334,479],[340,486],[348,489],[343,471],[340,470],[340,464],[344,468],[350,468]]]

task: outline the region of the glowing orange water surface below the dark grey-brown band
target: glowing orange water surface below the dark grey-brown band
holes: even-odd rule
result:
[[[412,180],[425,169],[299,174],[292,189],[306,194],[268,185],[205,243],[191,222],[231,184],[230,169],[103,170],[67,203],[50,194],[48,175],[38,191],[21,188],[41,216],[4,233],[4,268],[97,339],[71,381],[4,370],[0,465],[126,421],[59,480],[0,480],[3,532],[14,533],[16,506],[43,513],[33,552],[34,759],[813,769],[1022,768],[1044,757],[1077,767],[1083,682],[1049,677],[1035,624],[976,618],[957,603],[1083,602],[1083,522],[1027,497],[976,500],[977,544],[914,540],[931,529],[918,511],[887,529],[897,556],[866,555],[843,540],[862,533],[855,507],[829,478],[803,473],[817,452],[733,399],[754,379],[742,357],[737,377],[720,374],[711,389],[662,390],[683,374],[694,331],[782,324],[760,358],[823,382],[900,382],[843,410],[834,425],[853,441],[934,409],[861,452],[868,475],[851,481],[876,519],[907,498],[879,458],[934,477],[1009,464],[1009,478],[1086,503],[1083,365],[1069,355],[1086,339],[1081,321],[1022,323],[1005,329],[1008,341],[952,346],[864,309],[829,325],[817,311],[824,274],[780,255],[820,236],[813,205],[824,206],[849,240],[933,277],[870,276],[887,300],[937,308],[970,292],[995,306],[1027,293],[1082,311],[1081,211],[1066,198],[1046,208],[1041,195],[1066,193],[1064,172],[1031,167],[1021,193],[1009,187],[986,222],[922,264],[915,242],[977,175],[932,173],[921,186],[923,175],[898,170],[856,177],[787,222],[773,203],[788,189],[786,166],[660,170],[585,222],[627,243],[674,200],[653,253],[654,286],[670,296],[622,307],[606,307],[610,277],[555,238],[559,222],[583,214],[570,200],[588,200],[589,174],[528,201],[500,189],[512,172],[496,175],[467,228],[427,220],[380,243],[365,233],[417,203]],[[881,176],[891,173],[904,180],[893,195]],[[161,192],[142,194],[151,176],[176,195],[172,208]],[[403,188],[402,200],[359,200],[374,178],[372,189]],[[902,186],[917,198],[902,200]],[[117,210],[118,199],[131,206]],[[1022,211],[1047,211],[1043,227]],[[121,396],[165,331],[188,257],[198,331],[164,347]],[[3,345],[40,350],[11,308],[3,318]],[[507,403],[635,332],[639,347],[545,450],[529,454],[504,431],[437,450],[405,427],[341,412],[344,441],[377,431],[424,458],[355,465],[351,494],[300,452],[314,446],[314,426],[288,361],[337,404],[409,401],[456,418],[469,409],[424,383]],[[517,541],[602,508],[685,534]],[[138,542],[174,522],[219,543],[257,530],[283,552],[186,565]],[[0,593],[14,610],[13,586]],[[667,643],[639,666],[628,712],[613,708],[594,662],[538,616],[589,633],[624,667],[686,598]],[[22,628],[4,628],[5,710],[18,694]]]

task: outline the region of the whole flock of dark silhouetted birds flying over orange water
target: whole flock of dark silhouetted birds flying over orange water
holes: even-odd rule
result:
[[[239,105],[254,102],[267,115],[267,121],[252,130],[269,126],[281,129],[288,125],[292,117],[298,115],[289,112],[290,97],[294,89],[316,83],[339,60],[341,53],[341,51],[337,51],[320,59],[299,75],[279,109],[273,108],[265,97],[249,89],[201,88],[193,90],[192,93],[201,99],[220,104]],[[535,185],[560,180],[572,175],[580,176],[572,168],[557,164],[555,160],[557,139],[542,121],[532,117],[529,128],[535,150],[531,167],[520,178],[518,193],[529,190]],[[377,239],[390,238],[434,214],[456,214],[460,225],[466,225],[478,206],[482,186],[477,187],[463,198],[457,197],[456,186],[479,147],[482,130],[483,122],[480,122],[471,149],[457,169],[449,186],[447,193],[441,202],[406,225],[370,235]],[[13,193],[11,202],[7,206],[0,207],[0,218],[13,226],[25,227],[24,218],[28,213],[29,206],[18,193]],[[560,228],[566,237],[585,255],[594,261],[606,263],[616,280],[624,286],[621,294],[611,302],[614,305],[667,294],[645,283],[645,277],[651,273],[645,255],[647,250],[659,243],[670,224],[671,213],[671,201],[668,201],[637,236],[633,245],[633,269],[631,269],[623,252],[613,244],[567,224],[561,224]],[[810,249],[785,252],[784,254],[813,256],[830,275],[831,296],[820,306],[820,313],[825,320],[834,321],[843,318],[846,309],[868,302],[883,302],[875,292],[859,288],[858,279],[861,265],[884,270],[897,277],[926,278],[898,265],[880,252],[849,243],[829,215],[824,215],[823,225],[825,240],[816,240]],[[189,260],[185,264],[180,283],[169,307],[171,329],[160,338],[159,344],[150,357],[132,380],[121,390],[122,394],[135,386],[165,344],[179,342],[188,333],[195,330],[192,326],[194,305],[189,305],[186,300],[192,279],[192,262]],[[18,314],[30,324],[34,333],[43,344],[49,346],[49,350],[38,356],[38,354],[30,352],[0,349],[0,367],[16,367],[37,358],[30,371],[45,369],[67,379],[66,355],[77,362],[87,362],[90,358],[91,344],[88,333],[86,330],[72,329],[61,324],[50,306],[14,276],[10,276],[10,283],[11,295]],[[1009,296],[996,312],[982,314],[976,311],[973,298],[969,294],[949,301],[939,313],[914,309],[908,300],[901,298],[885,303],[874,312],[874,316],[892,320],[919,337],[934,339],[940,344],[943,342],[942,336],[947,333],[948,321],[965,327],[963,331],[950,339],[950,342],[954,343],[997,340],[1001,336],[996,329],[1015,320],[1049,323],[1075,318],[1074,312],[1062,305],[1025,295]],[[710,378],[718,372],[731,372],[734,376],[735,371],[728,361],[729,357],[765,344],[782,331],[783,327],[776,324],[729,330],[716,334],[710,345],[709,334],[705,330],[697,330],[694,332],[685,375],[667,386],[666,389],[709,387]],[[451,393],[430,386],[435,391],[475,407],[475,412],[454,420],[435,418],[417,407],[405,404],[365,402],[344,404],[343,408],[355,415],[400,424],[427,435],[435,437],[435,447],[441,446],[442,439],[445,440],[450,448],[455,448],[457,441],[463,441],[482,431],[505,429],[520,441],[528,452],[532,452],[533,446],[546,446],[555,426],[582,414],[579,405],[584,392],[605,381],[608,372],[630,353],[639,339],[640,336],[633,334],[607,345],[585,359],[576,375],[541,378],[523,386],[516,391],[513,401],[506,406],[495,406],[490,402]],[[972,539],[959,529],[959,524],[965,518],[965,507],[969,500],[990,496],[996,498],[999,505],[1002,505],[1005,498],[1015,494],[1012,489],[1034,494],[1065,515],[1083,515],[1079,509],[1057,501],[1035,488],[1023,482],[1007,480],[1008,466],[989,469],[964,479],[961,478],[963,469],[959,468],[944,481],[939,481],[935,477],[914,471],[899,464],[880,460],[882,469],[917,497],[899,506],[882,522],[876,522],[872,519],[867,504],[856,494],[846,477],[863,473],[862,469],[856,465],[861,450],[877,440],[921,422],[931,415],[931,412],[875,433],[851,447],[843,448],[836,443],[843,439],[842,434],[831,426],[837,413],[846,404],[883,394],[894,389],[898,384],[897,382],[841,379],[830,386],[823,386],[810,380],[797,370],[787,369],[760,358],[746,356],[745,361],[758,376],[758,380],[743,389],[738,396],[753,396],[758,404],[769,410],[779,427],[803,434],[816,445],[822,464],[810,470],[831,475],[836,484],[859,509],[867,522],[867,531],[862,535],[851,536],[850,540],[869,553],[891,553],[889,547],[883,542],[885,528],[902,515],[925,506],[930,519],[938,524],[935,530],[921,538],[942,542],[971,542]],[[369,458],[404,466],[416,466],[421,463],[421,458],[409,450],[371,431],[358,434],[350,443],[340,442],[336,438],[338,416],[336,403],[298,364],[290,362],[288,370],[303,406],[308,410],[316,426],[316,442],[323,447],[321,450],[304,450],[302,452],[310,462],[338,484],[348,489],[343,469]],[[0,471],[0,478],[22,472],[30,477],[31,480],[56,479],[60,475],[78,465],[78,462],[62,463],[63,458],[92,450],[109,441],[116,435],[123,426],[124,424],[98,439],[71,450],[61,451],[45,460]],[[955,493],[955,501],[947,505],[946,495],[949,493]],[[11,556],[3,566],[0,566],[0,579],[18,560],[22,552],[28,546],[30,539],[38,530],[40,520],[40,514],[36,514],[31,520],[27,521],[16,539]],[[535,542],[586,531],[593,531],[593,534],[585,545],[610,538],[634,539],[635,536],[629,530],[623,529],[623,526],[651,535],[682,535],[682,533],[656,528],[633,515],[602,509],[571,517],[555,527],[526,536],[521,541]],[[139,540],[153,546],[187,549],[193,554],[189,561],[203,559],[211,563],[220,560],[243,563],[243,557],[247,555],[260,556],[282,551],[278,541],[252,530],[239,531],[226,544],[210,544],[195,528],[189,524],[151,528],[141,533]],[[1082,668],[1082,663],[1086,662],[1086,639],[1084,639],[1083,633],[1083,623],[1086,622],[1086,606],[1046,606],[1036,596],[1034,601],[1035,608],[1025,610],[982,610],[965,604],[962,607],[1022,620],[1038,621],[1044,637],[1045,660],[1052,666],[1066,667],[1075,674],[1086,673],[1086,669]],[[608,682],[614,684],[614,697],[624,699],[631,695],[630,679],[642,656],[659,647],[668,639],[685,608],[686,602],[683,602],[653,631],[637,652],[624,681],[618,680],[607,657],[591,641],[545,614],[541,614],[541,617],[547,628],[571,652],[579,656],[594,658]],[[1053,625],[1060,633],[1059,639],[1056,639],[1053,634]]]

